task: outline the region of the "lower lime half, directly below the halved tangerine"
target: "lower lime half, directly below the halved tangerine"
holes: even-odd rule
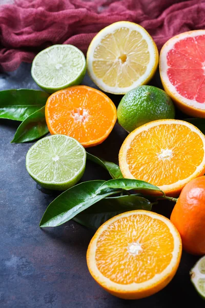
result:
[[[30,176],[42,187],[65,190],[75,185],[86,167],[86,151],[74,138],[55,135],[37,141],[26,155]]]

